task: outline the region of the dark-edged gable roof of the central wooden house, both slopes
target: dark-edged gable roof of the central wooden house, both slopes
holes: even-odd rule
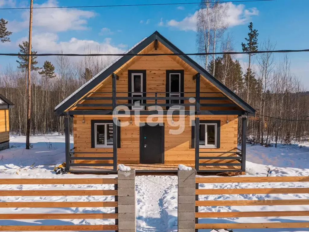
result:
[[[168,41],[165,37],[163,37],[158,31],[155,31],[149,37],[143,39],[138,44],[134,45],[131,49],[129,49],[125,54],[138,54],[142,51],[146,46],[151,44],[153,41],[158,40],[165,47],[170,49],[173,53],[184,54],[179,48],[177,48],[174,44]],[[188,57],[187,55],[179,55],[179,57],[190,65],[193,69],[203,75],[208,81],[210,81],[214,86],[216,86],[220,91],[222,91],[226,96],[228,96],[232,101],[237,103],[240,107],[242,107],[245,111],[249,113],[254,113],[255,110],[245,101],[243,101],[240,97],[238,97],[233,91],[227,88],[224,84],[222,84],[218,79],[214,78],[209,72],[207,72],[203,67],[201,67],[197,62]],[[100,82],[110,76],[113,72],[115,72],[118,68],[132,59],[133,56],[122,56],[114,60],[112,64],[108,67],[104,68],[101,72],[83,84],[80,88],[78,88],[75,92],[73,92],[69,97],[63,100],[59,105],[55,107],[55,111],[58,115],[62,114],[67,108],[74,104],[74,102],[78,101],[81,97],[83,97],[87,92],[91,89],[95,88]]]

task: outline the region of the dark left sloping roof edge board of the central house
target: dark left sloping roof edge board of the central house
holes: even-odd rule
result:
[[[142,41],[140,44],[138,44],[136,47],[134,47],[131,51],[129,51],[127,54],[136,54],[142,51],[147,45],[149,45],[152,41],[155,40],[155,33],[147,37],[144,41]],[[149,42],[151,41],[151,42]],[[109,67],[107,70],[105,70],[103,73],[101,73],[97,78],[93,79],[90,83],[88,83],[84,88],[82,88],[80,91],[78,91],[74,96],[72,96],[70,99],[68,99],[63,105],[59,106],[58,109],[54,110],[58,116],[62,114],[64,110],[66,110],[70,105],[72,105],[75,101],[77,101],[79,98],[81,98],[83,95],[85,95],[87,92],[89,92],[92,88],[97,86],[101,81],[106,79],[109,75],[111,75],[114,71],[116,71],[118,68],[120,68],[122,65],[124,65],[126,62],[128,62],[130,59],[132,59],[133,56],[123,56],[118,61],[116,61],[111,67]]]

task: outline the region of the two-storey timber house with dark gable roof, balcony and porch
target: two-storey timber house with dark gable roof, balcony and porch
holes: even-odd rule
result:
[[[156,31],[57,105],[70,172],[115,172],[117,164],[140,172],[174,172],[178,164],[245,171],[238,120],[245,141],[245,114],[255,110],[183,54]]]

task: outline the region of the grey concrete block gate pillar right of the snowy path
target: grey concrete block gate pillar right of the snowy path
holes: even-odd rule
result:
[[[196,170],[178,170],[178,232],[195,232]]]

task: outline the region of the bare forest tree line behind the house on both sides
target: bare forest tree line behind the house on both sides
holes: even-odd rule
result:
[[[234,51],[232,35],[227,31],[228,5],[220,1],[202,0],[197,15],[198,52]],[[0,20],[0,41],[10,41],[11,32],[6,29],[7,21]],[[248,36],[241,43],[244,52],[275,49],[270,40],[259,41],[258,30],[252,22],[248,25]],[[28,54],[28,41],[19,44],[19,54]],[[92,53],[85,48],[85,53]],[[99,53],[99,49],[96,51]],[[36,54],[33,50],[32,54]],[[38,66],[36,56],[32,56],[32,134],[49,132],[64,133],[62,117],[53,112],[56,105],[104,67],[112,57],[88,56],[79,60],[57,56],[52,62],[45,61]],[[26,132],[26,86],[28,57],[19,56],[18,68],[7,66],[0,76],[0,90],[15,103],[10,111],[11,132],[24,135]],[[308,138],[307,121],[309,93],[290,71],[287,55],[277,61],[272,52],[249,54],[245,68],[235,55],[206,55],[199,62],[215,78],[225,84],[239,97],[256,109],[256,115],[248,115],[248,141],[269,144],[271,141],[291,143]],[[289,120],[282,120],[289,119]],[[239,124],[241,120],[239,120]],[[239,138],[241,131],[239,125]],[[239,140],[240,141],[240,140]]]

